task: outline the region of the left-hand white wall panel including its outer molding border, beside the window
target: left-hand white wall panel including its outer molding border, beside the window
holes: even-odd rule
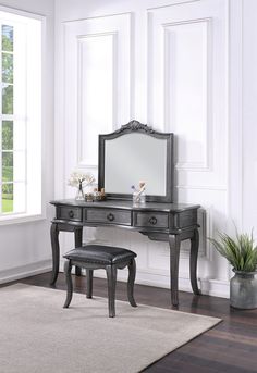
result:
[[[98,134],[130,120],[131,14],[64,22],[63,28],[68,178],[75,167],[96,169]]]

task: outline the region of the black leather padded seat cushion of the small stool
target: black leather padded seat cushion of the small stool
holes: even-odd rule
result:
[[[85,245],[68,251],[64,258],[86,263],[103,265],[119,264],[136,257],[136,253],[120,247]]]

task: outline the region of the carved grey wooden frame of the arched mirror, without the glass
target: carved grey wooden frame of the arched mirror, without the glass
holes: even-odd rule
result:
[[[134,132],[166,140],[166,195],[152,196],[146,194],[146,200],[148,202],[173,202],[173,134],[154,130],[148,125],[137,121],[131,121],[111,134],[99,135],[98,187],[100,189],[105,188],[106,141],[113,140],[120,136],[125,136]],[[131,200],[132,194],[106,192],[106,197],[107,199]]]

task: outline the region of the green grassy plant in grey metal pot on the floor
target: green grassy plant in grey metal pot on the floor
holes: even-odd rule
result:
[[[235,275],[230,281],[230,303],[234,308],[257,308],[257,246],[252,234],[238,234],[235,239],[224,233],[219,240],[210,238],[215,248],[228,259]]]

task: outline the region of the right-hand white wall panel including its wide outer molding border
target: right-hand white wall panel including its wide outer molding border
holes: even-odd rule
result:
[[[176,186],[225,189],[228,1],[151,9],[148,40],[148,122],[175,134]]]

